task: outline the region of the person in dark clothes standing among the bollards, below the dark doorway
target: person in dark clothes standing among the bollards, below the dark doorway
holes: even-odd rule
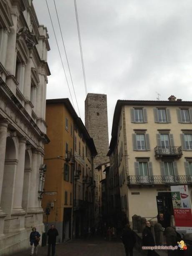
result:
[[[143,246],[155,246],[154,237],[151,231],[151,223],[146,221],[146,227],[143,230]],[[154,250],[147,250],[147,256],[154,256]]]

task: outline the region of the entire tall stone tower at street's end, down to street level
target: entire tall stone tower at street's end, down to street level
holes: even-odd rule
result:
[[[107,119],[107,96],[105,94],[87,94],[85,100],[85,126],[89,135],[93,138],[98,155],[94,158],[93,179],[95,180],[94,189],[94,218],[95,225],[101,222],[101,202],[100,181],[105,175],[101,175],[99,169],[101,165],[109,162],[107,152],[109,150],[108,119]],[[96,167],[99,168],[95,169]],[[104,165],[105,167],[105,165]],[[99,174],[100,173],[100,174]],[[102,170],[103,173],[103,170]]]

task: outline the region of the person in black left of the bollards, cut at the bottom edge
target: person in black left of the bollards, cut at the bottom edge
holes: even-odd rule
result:
[[[123,234],[122,242],[125,246],[126,256],[133,256],[133,248],[136,243],[136,236],[134,231],[130,228],[130,224],[126,224]]]

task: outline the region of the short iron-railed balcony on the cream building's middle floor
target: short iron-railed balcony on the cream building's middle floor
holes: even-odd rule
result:
[[[182,153],[182,147],[155,147],[155,157],[156,158],[162,158],[162,157],[175,157],[175,158],[181,158]]]

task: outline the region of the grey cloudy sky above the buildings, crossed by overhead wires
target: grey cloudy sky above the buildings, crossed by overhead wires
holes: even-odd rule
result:
[[[84,122],[85,87],[73,0],[55,0]],[[53,0],[47,0],[76,106]],[[90,93],[107,94],[109,134],[118,99],[192,100],[191,0],[76,0]],[[45,0],[33,0],[48,28],[47,99],[70,98]],[[109,136],[110,137],[110,136]]]

